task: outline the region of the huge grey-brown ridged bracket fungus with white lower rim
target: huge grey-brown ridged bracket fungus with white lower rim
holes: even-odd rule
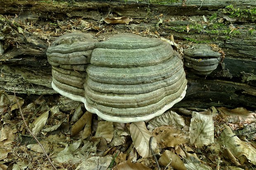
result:
[[[97,42],[69,33],[55,40],[47,56],[55,91],[107,121],[152,119],[186,93],[179,54],[157,38],[123,34]]]

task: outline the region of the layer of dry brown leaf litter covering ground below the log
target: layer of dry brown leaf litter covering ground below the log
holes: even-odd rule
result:
[[[51,169],[14,98],[0,93],[0,168]],[[58,169],[155,170],[159,163],[168,170],[254,170],[256,165],[256,114],[242,107],[173,108],[147,123],[116,123],[81,104],[64,113],[45,99],[18,102]]]

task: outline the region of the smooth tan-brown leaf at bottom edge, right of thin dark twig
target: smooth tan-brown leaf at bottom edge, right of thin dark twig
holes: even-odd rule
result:
[[[174,154],[172,151],[166,150],[159,158],[159,164],[167,166],[169,163],[175,170],[187,170],[178,155]]]

